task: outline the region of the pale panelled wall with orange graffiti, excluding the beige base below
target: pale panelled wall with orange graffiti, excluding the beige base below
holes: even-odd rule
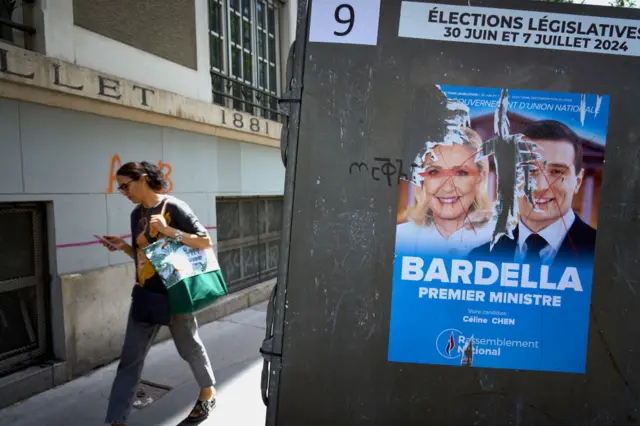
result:
[[[279,195],[278,149],[0,99],[0,202],[54,204],[57,267],[68,274],[128,261],[92,243],[129,234],[133,205],[111,176],[129,160],[162,162],[173,194],[215,239],[216,195]]]

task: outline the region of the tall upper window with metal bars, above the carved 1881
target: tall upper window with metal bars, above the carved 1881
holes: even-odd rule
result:
[[[213,102],[278,120],[278,5],[209,0]]]

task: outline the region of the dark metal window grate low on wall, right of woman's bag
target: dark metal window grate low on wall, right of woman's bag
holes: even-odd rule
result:
[[[282,197],[219,198],[218,258],[229,292],[276,276]]]

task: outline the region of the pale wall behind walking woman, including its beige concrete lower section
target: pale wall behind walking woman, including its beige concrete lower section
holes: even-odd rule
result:
[[[49,203],[53,350],[68,377],[113,360],[122,344],[133,264],[93,237],[130,233],[134,206],[112,182],[121,163],[161,164],[214,241],[217,196],[283,192],[276,148],[3,98],[0,129],[0,202]]]

